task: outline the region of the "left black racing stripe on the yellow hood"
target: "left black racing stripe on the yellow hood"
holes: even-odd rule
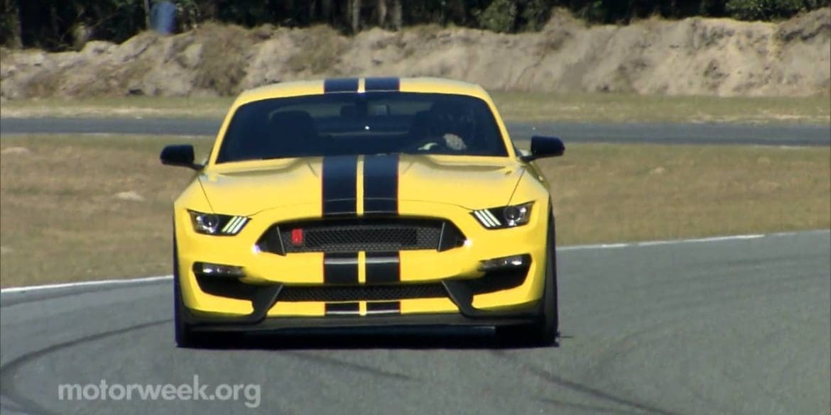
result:
[[[323,216],[357,212],[358,157],[323,158]]]

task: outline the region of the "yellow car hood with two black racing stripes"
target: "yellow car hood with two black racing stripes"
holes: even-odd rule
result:
[[[504,206],[523,173],[522,165],[508,158],[401,154],[220,164],[198,178],[214,212],[253,215],[298,204],[322,209],[324,187],[352,200],[372,197],[375,186],[391,188],[376,198],[470,209]],[[355,192],[349,190],[354,186]]]

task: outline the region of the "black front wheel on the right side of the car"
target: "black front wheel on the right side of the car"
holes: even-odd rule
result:
[[[551,346],[557,344],[559,336],[559,309],[557,304],[557,252],[555,247],[554,217],[548,222],[548,240],[545,264],[545,286],[539,305],[539,315],[533,323],[509,331],[509,340],[519,344]]]

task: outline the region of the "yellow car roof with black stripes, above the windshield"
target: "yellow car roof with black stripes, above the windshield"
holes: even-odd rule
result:
[[[327,90],[327,85],[349,86],[332,91]],[[365,92],[366,85],[381,85],[381,89],[376,90],[400,90],[401,92],[470,95],[482,100],[489,100],[488,94],[481,86],[471,84],[470,82],[431,77],[366,77],[329,78],[316,81],[287,81],[280,82],[278,84],[263,85],[244,91],[237,97],[236,105],[243,105],[257,100],[285,98],[299,95]]]

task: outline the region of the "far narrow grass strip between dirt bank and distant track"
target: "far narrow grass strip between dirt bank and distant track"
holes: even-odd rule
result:
[[[828,95],[810,97],[658,96],[492,92],[506,120],[559,122],[831,123]],[[189,117],[221,119],[228,97],[121,97],[10,100],[4,117]]]

